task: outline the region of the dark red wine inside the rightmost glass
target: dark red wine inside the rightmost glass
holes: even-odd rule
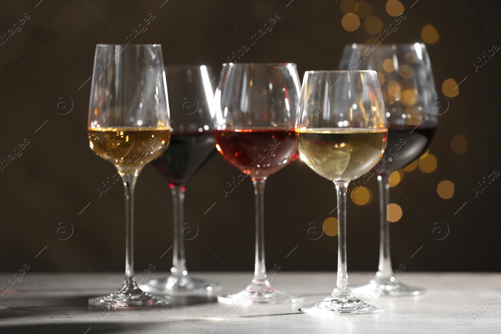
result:
[[[383,158],[374,167],[376,174],[391,174],[419,158],[428,148],[435,128],[415,126],[388,128],[388,144]]]

